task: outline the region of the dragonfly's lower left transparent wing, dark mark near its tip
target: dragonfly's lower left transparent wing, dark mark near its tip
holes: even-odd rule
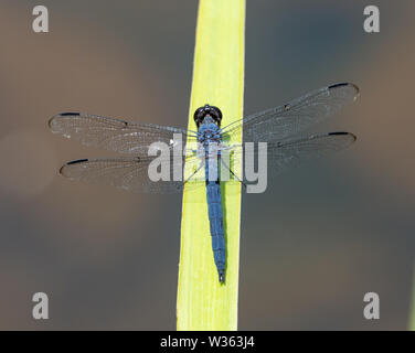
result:
[[[183,161],[173,161],[173,158],[162,159],[159,162],[169,162],[169,180],[153,182],[149,178],[150,163],[155,157],[126,157],[109,159],[82,159],[66,163],[60,170],[63,176],[92,183],[100,183],[135,192],[146,193],[175,193],[187,189],[194,190],[205,185],[203,161],[196,156],[190,156]],[[184,175],[177,180],[173,178],[174,167],[185,165]],[[182,170],[183,172],[183,170]],[[185,180],[185,182],[183,182]]]

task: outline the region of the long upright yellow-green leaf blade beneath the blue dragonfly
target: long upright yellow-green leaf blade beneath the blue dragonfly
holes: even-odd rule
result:
[[[199,4],[189,129],[194,110],[220,107],[222,126],[242,117],[245,0],[201,0]],[[241,132],[242,133],[242,132]],[[242,136],[232,140],[241,143]],[[236,330],[241,185],[222,188],[226,240],[225,284],[213,260],[206,194],[184,190],[178,286],[178,330]]]

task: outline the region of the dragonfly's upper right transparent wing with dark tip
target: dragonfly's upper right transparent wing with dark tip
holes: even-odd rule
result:
[[[358,96],[359,88],[349,83],[320,88],[280,107],[251,115],[224,127],[224,141],[241,133],[241,128],[246,142],[283,140],[333,115]]]

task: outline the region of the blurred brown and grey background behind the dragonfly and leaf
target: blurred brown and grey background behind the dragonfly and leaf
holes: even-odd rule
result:
[[[53,136],[82,110],[185,127],[198,1],[0,3],[0,329],[174,330],[180,195],[139,195],[60,178],[104,157]],[[363,9],[381,32],[363,31]],[[241,330],[405,330],[415,258],[415,3],[248,0],[245,114],[337,82],[357,104],[315,131],[358,136],[242,205]],[[35,321],[34,292],[50,298]],[[363,296],[381,319],[363,318]]]

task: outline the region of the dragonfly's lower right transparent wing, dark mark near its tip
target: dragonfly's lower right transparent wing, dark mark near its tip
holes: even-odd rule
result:
[[[286,139],[280,142],[267,143],[267,153],[263,154],[258,149],[251,149],[248,146],[234,147],[231,152],[232,159],[237,163],[241,160],[242,153],[244,154],[244,171],[247,168],[253,168],[246,163],[246,158],[251,160],[258,160],[258,158],[266,158],[267,161],[267,175],[276,176],[288,168],[296,167],[301,162],[312,161],[316,158],[329,156],[336,151],[340,151],[355,141],[355,136],[349,132],[329,132],[323,135],[313,135],[309,137],[300,137],[296,139]],[[255,162],[255,171],[260,169],[259,162]],[[252,183],[246,179],[244,172],[244,183]],[[256,181],[255,181],[256,183]]]

